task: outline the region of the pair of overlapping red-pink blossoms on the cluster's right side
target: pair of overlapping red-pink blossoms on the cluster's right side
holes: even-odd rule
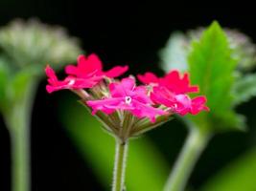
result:
[[[189,74],[180,77],[177,71],[171,71],[164,77],[146,73],[138,75],[140,81],[153,86],[151,100],[154,103],[165,105],[171,112],[184,116],[188,113],[197,115],[200,111],[209,111],[205,106],[206,97],[197,96],[191,99],[187,93],[197,93],[198,86],[191,86]]]

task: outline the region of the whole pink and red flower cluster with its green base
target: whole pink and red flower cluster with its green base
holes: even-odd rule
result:
[[[138,79],[144,85],[136,86],[132,75],[121,80],[114,78],[125,74],[128,66],[105,72],[96,54],[80,55],[77,66],[65,68],[67,76],[63,80],[58,80],[50,66],[45,71],[48,93],[69,89],[81,96],[81,102],[104,123],[105,129],[123,141],[158,126],[174,114],[196,115],[202,110],[209,111],[205,96],[187,95],[197,93],[198,86],[191,86],[189,75],[180,76],[177,71],[164,77],[139,74]]]

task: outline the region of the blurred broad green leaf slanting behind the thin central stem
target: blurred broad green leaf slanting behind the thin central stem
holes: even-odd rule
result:
[[[114,164],[114,138],[74,100],[61,101],[63,126],[109,190]],[[169,166],[148,138],[131,139],[128,148],[126,185],[128,190],[162,190]]]

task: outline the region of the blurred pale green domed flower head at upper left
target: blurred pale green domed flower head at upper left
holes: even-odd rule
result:
[[[44,67],[45,63],[64,64],[81,53],[78,39],[68,36],[61,27],[53,27],[31,19],[13,20],[0,29],[0,50],[11,59],[12,68],[30,65]],[[55,66],[56,67],[56,66]]]

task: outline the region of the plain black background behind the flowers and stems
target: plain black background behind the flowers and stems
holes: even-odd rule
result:
[[[156,67],[157,53],[173,31],[207,26],[218,20],[221,26],[237,28],[256,40],[255,11],[210,6],[210,3],[208,8],[185,4],[175,6],[160,1],[139,6],[128,1],[118,5],[87,1],[1,0],[0,26],[16,17],[37,17],[42,22],[64,26],[70,34],[81,38],[87,53],[97,53],[107,63],[128,64],[134,74],[146,70],[161,74]],[[45,84],[42,81],[39,85],[32,120],[32,190],[102,190],[92,169],[81,159],[57,120],[57,100],[62,94],[48,96]],[[252,110],[255,106],[256,99],[238,108],[248,118],[248,133],[226,133],[210,142],[190,180],[196,189],[253,145],[251,137],[255,131],[251,127],[255,125]],[[9,191],[10,139],[2,118],[0,120],[0,190]],[[173,123],[178,128],[149,133],[170,162],[174,161],[186,135],[185,128],[178,121]],[[175,142],[171,150],[168,139],[161,138],[166,134]]]

